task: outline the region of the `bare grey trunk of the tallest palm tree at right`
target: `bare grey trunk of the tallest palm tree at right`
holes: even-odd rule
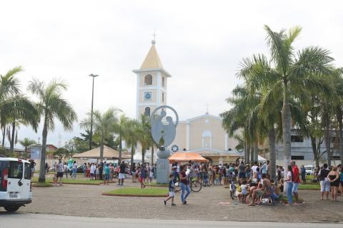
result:
[[[282,105],[282,138],[284,145],[284,162],[285,169],[291,164],[291,109],[288,103],[287,81],[284,81],[284,103]],[[287,172],[284,172],[285,180],[287,179]]]

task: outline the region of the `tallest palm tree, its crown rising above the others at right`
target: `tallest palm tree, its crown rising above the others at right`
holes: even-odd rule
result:
[[[329,91],[329,88],[322,83],[322,79],[314,76],[331,73],[332,66],[330,64],[333,58],[329,56],[329,51],[319,47],[308,47],[295,52],[292,44],[302,30],[299,26],[291,28],[289,31],[282,29],[279,32],[272,31],[268,26],[264,26],[264,29],[267,31],[266,40],[272,67],[264,68],[262,74],[254,80],[253,86],[272,85],[274,90],[282,88],[282,138],[284,160],[286,165],[289,165],[292,130],[289,100],[299,90],[305,88]],[[250,70],[247,68],[247,71]]]

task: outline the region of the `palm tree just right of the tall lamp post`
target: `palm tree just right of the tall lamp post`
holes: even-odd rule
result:
[[[98,136],[100,141],[100,159],[104,157],[104,142],[106,138],[115,133],[115,125],[118,122],[116,115],[118,112],[119,110],[116,108],[109,108],[104,113],[100,113],[99,110],[95,110],[93,113],[94,136]],[[90,128],[90,113],[88,115],[89,117],[80,123],[81,128]]]

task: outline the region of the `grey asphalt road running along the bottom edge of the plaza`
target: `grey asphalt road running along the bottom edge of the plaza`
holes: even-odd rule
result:
[[[165,227],[165,228],[189,228],[189,227],[287,227],[287,228],[312,228],[312,227],[339,227],[343,224],[333,223],[298,223],[298,222],[230,222],[230,221],[199,221],[177,219],[112,219],[97,217],[74,217],[56,214],[30,214],[30,213],[0,213],[0,228],[88,228],[88,227]]]

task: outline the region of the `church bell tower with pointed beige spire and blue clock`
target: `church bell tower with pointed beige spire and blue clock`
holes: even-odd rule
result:
[[[172,76],[164,70],[155,44],[156,41],[151,41],[151,48],[141,68],[133,71],[137,76],[137,120],[141,114],[150,116],[158,106],[166,105],[167,78]]]

